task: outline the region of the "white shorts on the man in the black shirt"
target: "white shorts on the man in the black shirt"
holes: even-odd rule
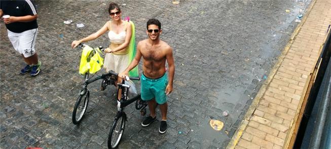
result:
[[[35,54],[34,43],[37,37],[38,28],[26,30],[20,33],[8,30],[8,38],[14,49],[23,54],[24,57],[30,57]]]

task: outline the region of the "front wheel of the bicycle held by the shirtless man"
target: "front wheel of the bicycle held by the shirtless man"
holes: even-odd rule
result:
[[[108,148],[116,148],[122,138],[125,128],[125,118],[123,115],[120,115],[117,119],[114,120],[111,131],[108,135]]]

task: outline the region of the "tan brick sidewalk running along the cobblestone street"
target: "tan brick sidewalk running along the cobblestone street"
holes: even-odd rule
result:
[[[228,148],[287,148],[331,22],[331,1],[310,4]]]

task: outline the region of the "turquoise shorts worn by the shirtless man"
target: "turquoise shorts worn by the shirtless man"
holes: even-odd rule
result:
[[[158,79],[147,78],[142,73],[140,84],[140,94],[142,100],[148,101],[155,98],[155,101],[158,104],[164,104],[167,102],[167,95],[165,93],[168,85],[167,73],[164,73],[163,76]]]

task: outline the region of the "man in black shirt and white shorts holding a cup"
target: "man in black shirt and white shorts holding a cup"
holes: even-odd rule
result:
[[[42,63],[34,49],[38,32],[38,15],[34,4],[30,0],[0,1],[0,17],[6,24],[8,38],[14,49],[27,63],[20,74],[30,72],[31,76],[38,75]]]

